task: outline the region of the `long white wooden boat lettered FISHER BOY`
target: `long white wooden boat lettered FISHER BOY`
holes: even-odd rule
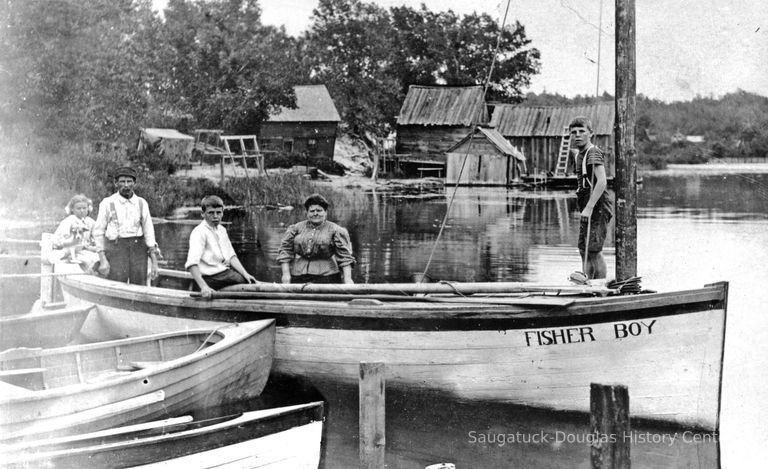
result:
[[[470,293],[516,285],[527,293]],[[718,427],[725,282],[606,296],[595,296],[612,293],[605,288],[530,284],[256,284],[250,287],[274,291],[219,292],[207,301],[88,276],[62,278],[61,286],[67,301],[98,305],[92,317],[101,324],[133,324],[134,334],[179,318],[275,318],[274,371],[316,386],[356,383],[359,362],[375,360],[386,364],[388,386],[588,412],[590,383],[621,383],[629,387],[634,417]],[[289,287],[305,293],[280,292]],[[408,289],[456,293],[392,293]],[[389,293],[370,295],[376,291]]]

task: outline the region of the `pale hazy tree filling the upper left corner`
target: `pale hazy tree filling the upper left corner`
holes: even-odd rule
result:
[[[135,133],[155,82],[149,0],[4,3],[4,127],[76,140]]]

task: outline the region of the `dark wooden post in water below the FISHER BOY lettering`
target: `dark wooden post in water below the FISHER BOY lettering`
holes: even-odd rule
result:
[[[629,469],[629,390],[621,384],[589,386],[590,434],[594,469]]]

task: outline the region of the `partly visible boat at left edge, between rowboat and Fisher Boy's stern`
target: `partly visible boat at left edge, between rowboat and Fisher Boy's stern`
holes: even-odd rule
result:
[[[77,339],[91,306],[40,310],[0,318],[0,350],[60,347]]]

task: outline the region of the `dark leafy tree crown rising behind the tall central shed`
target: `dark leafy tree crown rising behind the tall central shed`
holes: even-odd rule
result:
[[[485,14],[320,0],[303,50],[313,79],[328,86],[351,131],[385,135],[409,85],[484,84],[498,36]],[[540,66],[522,25],[504,29],[495,58],[488,99],[519,99]]]

